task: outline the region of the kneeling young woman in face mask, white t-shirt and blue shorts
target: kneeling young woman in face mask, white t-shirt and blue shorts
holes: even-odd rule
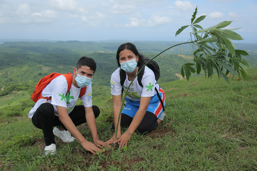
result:
[[[112,130],[118,131],[115,140],[115,133],[107,141],[107,144],[118,143],[121,146],[126,146],[130,137],[134,131],[139,133],[151,132],[162,122],[165,113],[162,112],[162,105],[157,96],[157,92],[154,90],[156,87],[162,102],[165,104],[165,94],[158,84],[156,84],[154,72],[145,67],[144,75],[142,77],[141,87],[137,81],[137,78],[132,82],[126,100],[126,106],[121,112],[121,119],[118,128],[118,115],[121,109],[121,78],[120,71],[123,69],[126,71],[126,79],[123,85],[124,91],[127,90],[131,80],[138,72],[138,66],[142,65],[144,56],[141,55],[135,45],[132,43],[122,44],[117,51],[116,59],[119,68],[114,71],[111,76],[111,94],[113,96],[113,125]],[[128,127],[126,132],[121,134],[121,127]]]

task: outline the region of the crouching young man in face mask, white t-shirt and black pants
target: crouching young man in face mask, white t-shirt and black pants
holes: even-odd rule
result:
[[[74,68],[70,91],[67,93],[67,79],[64,75],[60,75],[42,91],[42,96],[49,98],[40,98],[30,110],[28,117],[32,119],[34,126],[43,130],[45,154],[55,154],[55,135],[64,142],[72,142],[75,137],[86,150],[93,154],[95,151],[102,151],[99,148],[108,145],[100,141],[97,135],[95,118],[99,116],[100,110],[97,106],[92,106],[91,87],[95,70],[96,63],[92,58],[81,57]],[[75,106],[80,90],[85,86],[86,92],[80,97],[83,105]],[[94,144],[88,142],[76,128],[85,122],[91,131]],[[56,128],[53,129],[54,126]],[[71,137],[70,133],[74,137]]]

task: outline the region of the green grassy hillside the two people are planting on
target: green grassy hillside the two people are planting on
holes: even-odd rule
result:
[[[204,77],[162,84],[166,117],[146,135],[133,134],[128,147],[92,155],[79,144],[56,138],[56,155],[43,153],[43,133],[27,117],[0,126],[1,170],[257,170],[257,70],[249,81],[230,84]],[[108,97],[106,97],[107,99]],[[100,105],[100,139],[112,136],[111,100]],[[78,126],[92,142],[87,124]],[[168,130],[168,131],[167,131]],[[125,131],[125,129],[123,129]],[[162,132],[166,133],[162,136]],[[154,136],[152,136],[154,135]]]

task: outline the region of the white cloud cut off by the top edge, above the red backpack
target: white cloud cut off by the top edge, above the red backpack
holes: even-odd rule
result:
[[[74,11],[78,5],[74,0],[49,0],[48,4],[51,8],[61,11]]]

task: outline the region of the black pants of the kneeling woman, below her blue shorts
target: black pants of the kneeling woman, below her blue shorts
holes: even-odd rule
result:
[[[133,118],[131,116],[128,116],[126,114],[121,114],[121,127],[123,128],[127,128],[131,122],[132,122]],[[144,134],[146,132],[151,132],[154,129],[156,129],[158,126],[158,122],[157,122],[157,116],[154,115],[152,112],[146,111],[144,118],[142,119],[141,123],[139,124],[139,126],[136,128],[136,130],[138,131],[138,133]],[[112,125],[112,130],[114,130],[114,122]]]

